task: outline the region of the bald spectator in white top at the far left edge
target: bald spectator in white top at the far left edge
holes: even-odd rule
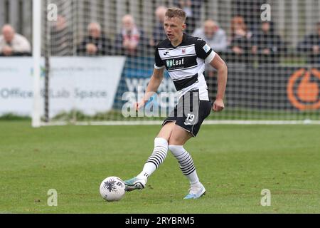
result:
[[[14,28],[6,24],[2,28],[0,36],[0,55],[1,56],[25,56],[31,54],[29,41],[14,31]]]

